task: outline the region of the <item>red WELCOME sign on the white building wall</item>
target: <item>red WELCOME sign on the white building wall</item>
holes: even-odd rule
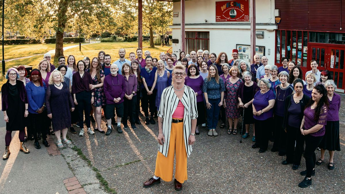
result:
[[[216,22],[249,22],[249,0],[216,1]]]

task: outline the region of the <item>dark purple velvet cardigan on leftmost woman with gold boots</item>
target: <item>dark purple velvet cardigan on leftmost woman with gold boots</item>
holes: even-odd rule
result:
[[[8,108],[8,101],[7,101],[7,97],[8,97],[8,90],[9,90],[9,80],[7,80],[6,83],[4,83],[1,87],[1,100],[2,100],[2,111],[6,111],[7,108]],[[24,86],[24,83],[20,80],[16,80],[16,86],[17,86],[17,89],[18,89],[18,92],[19,92],[19,96],[20,96],[20,99],[25,103],[25,104],[28,104],[28,98],[27,98],[27,95],[26,95],[26,89],[25,89],[25,86]]]

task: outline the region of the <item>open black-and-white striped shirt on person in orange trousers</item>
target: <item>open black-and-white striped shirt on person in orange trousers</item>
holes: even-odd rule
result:
[[[170,130],[172,123],[172,114],[174,114],[179,99],[177,98],[174,87],[169,86],[163,90],[162,96],[160,98],[160,105],[158,110],[158,116],[164,118],[163,120],[163,135],[165,143],[158,146],[158,151],[162,153],[165,157],[168,156],[169,141],[170,141]],[[196,107],[196,96],[194,90],[189,86],[185,85],[185,92],[183,93],[181,103],[185,106],[184,116],[183,116],[183,138],[185,142],[185,148],[187,156],[189,157],[192,147],[188,145],[188,138],[191,131],[191,119],[196,119],[198,117],[198,110]],[[174,150],[172,151],[174,152]]]

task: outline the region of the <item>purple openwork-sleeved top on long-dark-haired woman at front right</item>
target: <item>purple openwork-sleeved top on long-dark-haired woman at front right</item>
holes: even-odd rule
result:
[[[315,109],[311,109],[311,106],[308,106],[304,109],[304,130],[308,130],[315,125],[323,125],[320,130],[315,133],[311,133],[310,135],[314,137],[323,136],[325,135],[325,125],[327,124],[327,108],[325,105],[321,107],[321,113],[319,115],[319,119],[317,121],[314,120]]]

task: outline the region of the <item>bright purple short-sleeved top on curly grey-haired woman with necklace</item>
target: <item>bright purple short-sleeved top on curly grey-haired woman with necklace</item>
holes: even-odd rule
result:
[[[272,90],[268,90],[265,94],[261,94],[261,90],[257,91],[254,96],[253,105],[256,111],[261,111],[268,106],[268,100],[274,100],[275,96]],[[273,117],[273,108],[269,109],[267,112],[261,114],[260,116],[254,115],[256,120],[266,120]]]

